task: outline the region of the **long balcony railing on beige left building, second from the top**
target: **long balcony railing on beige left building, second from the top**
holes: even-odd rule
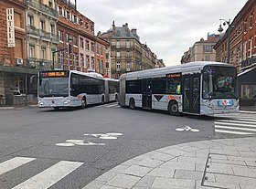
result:
[[[27,35],[34,35],[37,37],[43,37],[52,40],[53,42],[59,43],[59,36],[48,33],[43,29],[37,29],[35,26],[27,26]]]

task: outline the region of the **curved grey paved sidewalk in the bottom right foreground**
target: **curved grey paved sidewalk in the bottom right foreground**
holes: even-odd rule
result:
[[[256,137],[189,142],[147,152],[83,189],[255,189]]]

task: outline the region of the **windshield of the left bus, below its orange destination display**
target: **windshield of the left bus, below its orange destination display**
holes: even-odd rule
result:
[[[41,78],[38,87],[38,95],[43,97],[68,97],[69,78]]]

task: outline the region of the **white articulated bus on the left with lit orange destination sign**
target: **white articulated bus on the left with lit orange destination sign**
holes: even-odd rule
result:
[[[109,79],[111,80],[111,79]],[[40,71],[37,99],[39,108],[85,108],[90,104],[117,100],[118,80],[103,79],[98,73],[76,70]],[[113,99],[114,96],[116,99]]]

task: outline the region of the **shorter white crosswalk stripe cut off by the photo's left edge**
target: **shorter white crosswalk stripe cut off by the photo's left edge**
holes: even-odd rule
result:
[[[32,162],[33,160],[36,160],[36,158],[15,157],[13,159],[5,161],[4,163],[0,163],[0,175],[16,169],[23,164]]]

